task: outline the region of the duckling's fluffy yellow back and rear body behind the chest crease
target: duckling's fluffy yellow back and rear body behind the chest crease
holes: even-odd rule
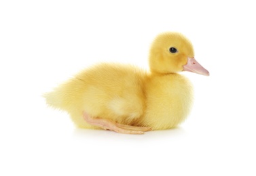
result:
[[[132,124],[145,110],[146,73],[122,64],[99,64],[88,68],[47,93],[47,103],[66,110],[79,127],[94,128],[82,113]]]

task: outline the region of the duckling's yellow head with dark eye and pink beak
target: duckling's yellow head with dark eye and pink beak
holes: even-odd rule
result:
[[[194,59],[191,42],[179,32],[164,32],[156,37],[149,52],[149,67],[159,74],[190,71],[209,75]]]

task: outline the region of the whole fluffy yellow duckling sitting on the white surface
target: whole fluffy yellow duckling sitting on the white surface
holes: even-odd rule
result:
[[[177,127],[189,114],[191,83],[181,71],[208,76],[194,58],[191,42],[179,32],[156,37],[149,68],[97,64],[44,95],[47,104],[69,112],[77,127],[117,133]]]

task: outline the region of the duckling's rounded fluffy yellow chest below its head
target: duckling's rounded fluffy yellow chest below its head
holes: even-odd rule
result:
[[[191,83],[180,74],[152,77],[146,86],[146,94],[144,118],[153,129],[177,126],[188,115],[193,100]]]

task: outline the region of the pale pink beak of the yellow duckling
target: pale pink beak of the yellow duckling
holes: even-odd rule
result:
[[[202,67],[195,58],[187,58],[187,64],[183,66],[183,71],[195,72],[205,76],[209,76],[208,70]]]

